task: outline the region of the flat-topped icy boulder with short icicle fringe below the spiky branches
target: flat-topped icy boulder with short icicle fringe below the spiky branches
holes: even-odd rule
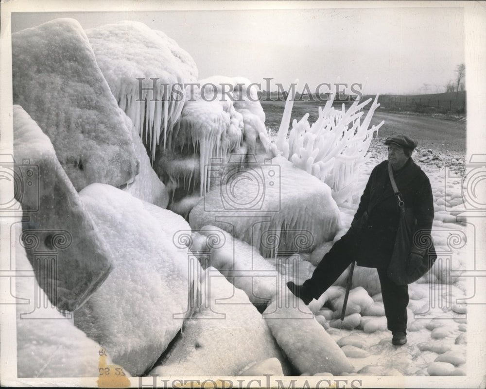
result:
[[[341,228],[329,186],[282,157],[227,176],[192,209],[194,230],[215,225],[271,257],[312,252]]]

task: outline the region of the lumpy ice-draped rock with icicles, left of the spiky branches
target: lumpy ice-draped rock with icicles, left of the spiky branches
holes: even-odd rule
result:
[[[175,201],[195,190],[203,196],[211,185],[218,185],[217,167],[241,166],[247,155],[275,155],[265,114],[250,84],[242,77],[214,76],[186,88],[180,120],[168,140],[169,151],[159,147],[156,157],[159,176],[172,183],[174,191],[178,189]]]

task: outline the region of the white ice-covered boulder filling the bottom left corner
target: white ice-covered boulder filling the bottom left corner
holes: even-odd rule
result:
[[[32,271],[25,250],[19,245],[15,261],[17,270],[24,274]],[[16,305],[17,376],[97,377],[101,346],[76,328],[72,318],[55,308],[37,304],[46,301],[47,296],[33,275],[15,280],[15,296],[25,299],[23,304]],[[35,320],[29,320],[33,317]]]

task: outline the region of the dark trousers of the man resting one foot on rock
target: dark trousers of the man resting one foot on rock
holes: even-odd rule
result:
[[[312,277],[303,284],[305,292],[318,299],[346,268],[356,259],[358,242],[356,236],[346,234],[334,243]],[[383,305],[390,331],[404,331],[407,328],[408,286],[397,285],[386,275],[386,269],[377,269],[382,287]]]

